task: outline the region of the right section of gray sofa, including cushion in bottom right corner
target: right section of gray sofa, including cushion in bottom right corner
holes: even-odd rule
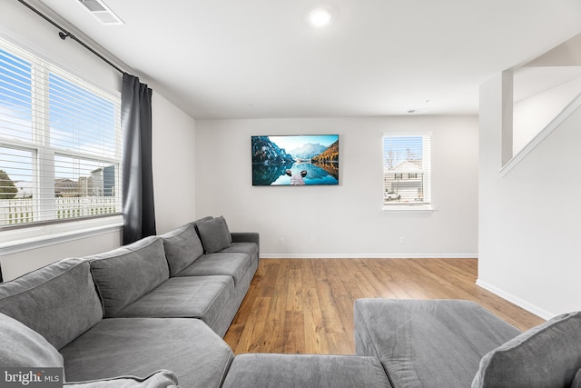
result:
[[[525,333],[477,303],[355,301],[355,350],[393,387],[581,388],[581,313]]]

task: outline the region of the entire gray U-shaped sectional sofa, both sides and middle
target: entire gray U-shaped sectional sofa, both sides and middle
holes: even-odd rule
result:
[[[0,284],[0,368],[84,388],[581,387],[581,314],[520,333],[467,301],[358,300],[355,355],[234,356],[259,247],[205,217]]]

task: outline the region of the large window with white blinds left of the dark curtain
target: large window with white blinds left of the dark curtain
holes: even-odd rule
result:
[[[121,212],[120,104],[0,40],[0,230]]]

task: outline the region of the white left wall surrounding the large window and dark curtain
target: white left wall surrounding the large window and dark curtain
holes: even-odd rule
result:
[[[24,5],[18,2],[2,3],[0,36],[24,45],[37,55],[111,93],[120,93],[120,73],[81,45],[70,39],[63,41],[57,34],[58,30]],[[187,171],[193,171],[195,165],[195,122],[162,95],[155,93],[154,87],[153,90],[153,183],[156,224],[158,232],[163,233],[191,221],[195,216],[194,178],[193,174],[187,174]],[[120,231],[110,230],[21,252],[0,252],[0,263],[6,281],[64,257],[103,252],[120,244]]]

